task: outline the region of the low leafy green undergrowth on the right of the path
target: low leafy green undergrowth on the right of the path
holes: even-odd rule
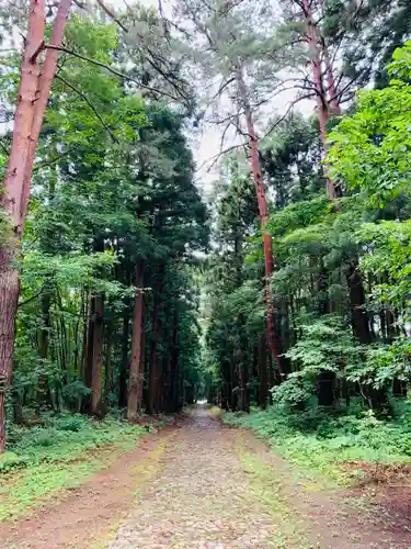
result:
[[[362,475],[362,463],[411,463],[411,403],[396,405],[396,416],[377,419],[361,406],[333,414],[316,408],[289,413],[272,406],[250,415],[225,414],[225,422],[248,427],[293,463],[346,483],[341,466],[353,464],[350,475]],[[352,478],[351,478],[352,479]]]

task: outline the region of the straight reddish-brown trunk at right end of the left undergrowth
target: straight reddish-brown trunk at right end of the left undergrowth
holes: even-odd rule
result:
[[[136,296],[133,316],[132,361],[129,369],[127,419],[136,419],[139,412],[139,385],[142,382],[141,365],[142,338],[142,264],[136,265]]]

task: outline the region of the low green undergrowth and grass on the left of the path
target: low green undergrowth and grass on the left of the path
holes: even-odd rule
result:
[[[42,427],[13,427],[0,456],[0,520],[16,517],[57,491],[81,484],[136,446],[144,427],[114,417],[49,415]]]

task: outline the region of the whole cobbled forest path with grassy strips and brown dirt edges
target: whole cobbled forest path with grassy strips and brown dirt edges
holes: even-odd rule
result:
[[[409,549],[411,493],[401,490],[312,480],[197,407],[82,485],[0,524],[0,547]]]

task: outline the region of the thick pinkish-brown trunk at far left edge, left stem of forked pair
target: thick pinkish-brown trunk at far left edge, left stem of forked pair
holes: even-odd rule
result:
[[[5,242],[0,247],[0,452],[5,447],[5,394],[12,377],[15,313],[20,292],[15,265],[21,234],[20,208],[41,69],[39,57],[35,53],[44,40],[44,0],[31,1],[12,143],[0,190],[0,204],[10,223],[10,229],[4,234]]]

